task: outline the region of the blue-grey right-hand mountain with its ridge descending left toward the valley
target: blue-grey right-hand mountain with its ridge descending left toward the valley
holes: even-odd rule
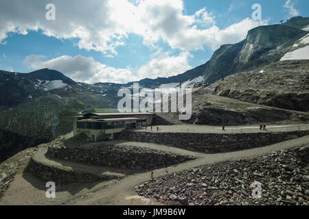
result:
[[[287,53],[306,47],[304,54],[309,59],[308,40],[297,44],[309,31],[309,18],[297,16],[282,25],[256,27],[248,32],[247,38],[236,44],[225,44],[214,52],[205,64],[173,77],[144,79],[141,86],[152,88],[162,83],[180,83],[193,81],[202,76],[205,83],[214,83],[244,70],[253,70],[259,66],[278,62]],[[297,45],[297,47],[295,47]],[[293,57],[291,57],[293,59]],[[298,58],[299,59],[299,58]]]

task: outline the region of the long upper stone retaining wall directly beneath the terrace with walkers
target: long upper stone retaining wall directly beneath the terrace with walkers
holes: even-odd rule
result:
[[[120,140],[165,144],[192,151],[220,153],[276,144],[308,135],[307,131],[261,132],[261,133],[157,133],[122,131]]]

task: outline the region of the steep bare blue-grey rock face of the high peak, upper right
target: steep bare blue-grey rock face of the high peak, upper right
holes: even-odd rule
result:
[[[203,71],[205,81],[214,83],[242,70],[278,62],[306,34],[306,31],[286,25],[251,29],[246,40],[238,44],[223,45],[214,53]]]

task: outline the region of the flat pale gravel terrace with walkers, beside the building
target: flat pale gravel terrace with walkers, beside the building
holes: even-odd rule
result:
[[[159,131],[157,131],[159,127]],[[301,125],[266,125],[267,131],[279,132],[279,131],[305,131],[308,130],[309,124]],[[151,127],[143,129],[136,129],[135,131],[148,131],[151,132]],[[209,126],[209,125],[157,125],[152,127],[152,132],[174,132],[174,133],[258,133],[260,131],[259,125],[238,126],[238,127],[225,127],[225,131],[222,131],[222,127]]]

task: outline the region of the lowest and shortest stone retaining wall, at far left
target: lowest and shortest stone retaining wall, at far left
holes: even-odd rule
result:
[[[35,159],[30,159],[30,162],[25,170],[30,172],[38,179],[44,181],[54,181],[55,183],[87,183],[94,181],[106,181],[111,179],[120,179],[113,175],[95,175],[90,172],[80,172],[73,170],[66,170],[65,168],[59,168],[54,166],[48,166],[36,162]]]

